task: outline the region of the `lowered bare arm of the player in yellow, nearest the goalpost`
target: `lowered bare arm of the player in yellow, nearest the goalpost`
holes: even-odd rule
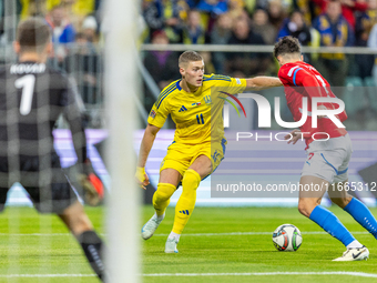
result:
[[[142,143],[140,145],[140,152],[139,152],[139,160],[137,160],[137,168],[136,168],[136,182],[145,190],[145,185],[150,183],[150,179],[147,174],[145,173],[145,163],[147,160],[147,155],[150,154],[150,151],[152,149],[154,139],[160,131],[161,128],[147,124],[144,137],[142,140]]]

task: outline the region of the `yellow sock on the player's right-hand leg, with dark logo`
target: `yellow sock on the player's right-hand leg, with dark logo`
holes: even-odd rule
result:
[[[181,234],[186,225],[191,213],[195,208],[196,189],[201,182],[201,175],[188,169],[182,179],[182,194],[175,205],[173,233]],[[167,206],[167,205],[166,205]]]

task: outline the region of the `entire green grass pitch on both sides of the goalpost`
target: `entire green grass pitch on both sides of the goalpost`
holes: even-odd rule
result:
[[[85,209],[95,229],[104,233],[103,209]],[[363,262],[332,262],[345,247],[296,209],[286,208],[196,208],[179,244],[179,254],[165,254],[164,244],[170,233],[174,209],[155,235],[141,241],[143,282],[377,282],[376,277],[329,275],[323,272],[360,272],[377,274],[377,241],[347,213],[330,210],[356,232],[367,245],[370,259]],[[153,214],[147,205],[142,222]],[[377,209],[373,209],[377,215]],[[143,225],[140,223],[140,228]],[[272,243],[272,232],[281,224],[295,224],[303,233],[297,252],[278,252]],[[121,223],[120,223],[121,224]],[[226,235],[224,233],[253,232],[256,234]],[[259,233],[261,232],[261,233]],[[267,232],[267,234],[265,233]],[[306,232],[318,232],[308,233]],[[24,235],[27,234],[27,235]],[[202,235],[197,235],[202,234]],[[10,277],[11,274],[93,274],[75,240],[59,219],[38,214],[30,208],[7,208],[0,214],[0,282],[99,282],[88,277]],[[299,272],[299,275],[271,275],[276,272]],[[169,273],[170,276],[161,276]],[[171,276],[190,273],[196,276]],[[203,275],[213,273],[213,275]],[[221,275],[221,273],[233,273]],[[252,273],[234,275],[234,273]],[[255,275],[253,273],[259,273]],[[261,274],[263,273],[263,274]],[[317,274],[305,274],[317,273]],[[149,276],[146,276],[150,274]],[[159,275],[160,274],[160,275]],[[159,275],[159,276],[157,276]]]

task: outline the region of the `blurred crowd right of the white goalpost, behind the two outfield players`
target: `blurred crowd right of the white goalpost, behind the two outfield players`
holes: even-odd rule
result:
[[[377,0],[144,0],[144,42],[153,44],[274,44],[284,36],[310,47],[377,48]],[[177,54],[147,52],[145,65],[163,88],[179,78]],[[206,72],[276,74],[271,54],[204,53]],[[374,55],[306,55],[333,85],[346,75],[371,77]]]

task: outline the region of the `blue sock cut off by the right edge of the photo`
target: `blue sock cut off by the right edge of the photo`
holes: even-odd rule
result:
[[[353,198],[344,210],[377,239],[377,221],[363,202]]]

